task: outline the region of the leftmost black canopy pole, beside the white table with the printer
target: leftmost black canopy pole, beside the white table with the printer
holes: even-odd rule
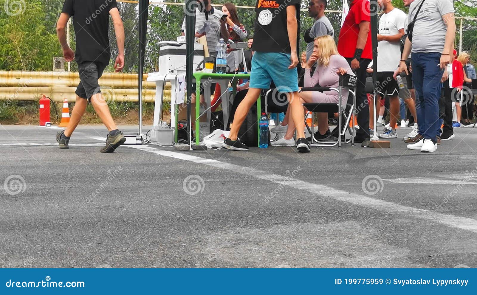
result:
[[[139,135],[143,133],[143,73],[144,73],[144,56],[146,51],[146,33],[147,33],[147,16],[149,12],[149,0],[139,0],[139,65],[138,74],[138,102],[139,102]]]

